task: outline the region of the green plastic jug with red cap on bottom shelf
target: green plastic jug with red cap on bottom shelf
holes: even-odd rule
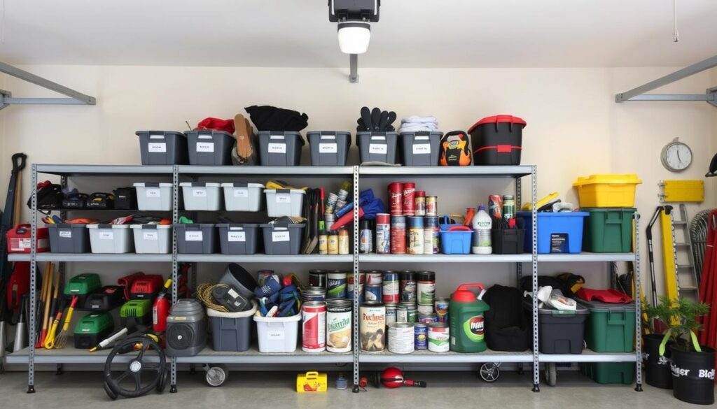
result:
[[[470,289],[480,290],[479,294]],[[482,300],[483,284],[461,284],[452,294],[448,305],[450,350],[455,352],[483,352],[485,322],[483,313],[490,307]]]

